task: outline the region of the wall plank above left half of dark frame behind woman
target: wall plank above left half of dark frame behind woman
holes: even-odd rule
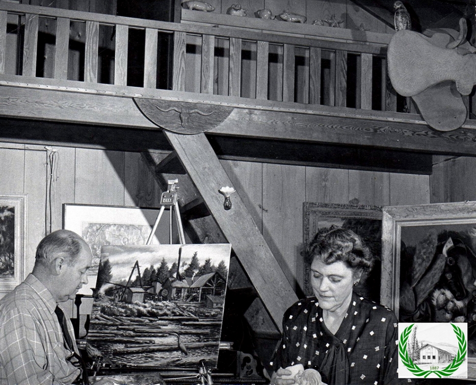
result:
[[[348,170],[306,167],[306,201],[347,204]]]

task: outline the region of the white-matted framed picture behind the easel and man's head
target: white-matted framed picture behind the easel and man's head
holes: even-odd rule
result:
[[[158,214],[159,209],[155,208],[63,204],[63,229],[82,236],[93,254],[93,264],[88,270],[88,284],[82,286],[78,294],[93,294],[101,247],[145,245]],[[166,212],[162,215],[152,240],[152,244],[163,243],[170,243],[170,220]]]

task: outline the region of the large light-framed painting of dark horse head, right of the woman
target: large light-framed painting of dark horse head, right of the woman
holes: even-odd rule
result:
[[[401,322],[467,322],[476,378],[476,202],[384,207],[382,233],[382,304]]]

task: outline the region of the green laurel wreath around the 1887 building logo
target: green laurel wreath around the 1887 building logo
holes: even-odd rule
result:
[[[466,338],[463,334],[463,331],[456,325],[451,324],[451,326],[453,327],[454,334],[456,334],[456,338],[458,339],[459,349],[458,353],[456,354],[456,357],[446,368],[442,370],[422,370],[420,367],[418,367],[418,365],[413,363],[413,360],[408,356],[407,352],[407,341],[412,331],[413,325],[415,324],[412,324],[409,327],[405,328],[403,333],[400,335],[400,343],[398,344],[398,354],[400,355],[403,365],[405,365],[408,370],[412,372],[415,376],[423,376],[424,378],[426,378],[431,373],[435,373],[439,378],[448,377],[453,374],[456,369],[458,369],[463,363],[464,358],[466,356]]]

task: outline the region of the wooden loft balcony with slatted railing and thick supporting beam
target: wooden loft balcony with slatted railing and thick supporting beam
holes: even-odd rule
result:
[[[428,127],[392,89],[391,36],[188,10],[182,23],[166,23],[1,1],[2,137],[32,119],[38,129],[160,131],[137,108],[151,99],[231,107],[205,128],[222,157],[430,173],[428,155],[476,154],[475,98],[462,128]]]

